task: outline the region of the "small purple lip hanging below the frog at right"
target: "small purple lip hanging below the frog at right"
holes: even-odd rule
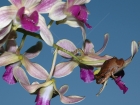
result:
[[[123,94],[125,94],[128,88],[125,86],[124,82],[121,81],[121,77],[116,78],[114,81],[119,86],[119,88],[123,90]]]

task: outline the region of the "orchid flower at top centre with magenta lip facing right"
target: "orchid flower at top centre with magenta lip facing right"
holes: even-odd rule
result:
[[[88,23],[88,11],[85,4],[90,0],[67,0],[67,2],[57,2],[50,10],[49,17],[57,21],[57,24],[64,23],[72,27],[82,29],[83,39],[86,39],[84,24],[92,28]]]

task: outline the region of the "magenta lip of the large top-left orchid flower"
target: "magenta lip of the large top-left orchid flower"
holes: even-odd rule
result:
[[[39,26],[36,26],[38,23],[38,12],[34,11],[30,16],[27,16],[24,14],[25,7],[22,7],[18,10],[17,16],[20,18],[20,22],[22,25],[22,28],[24,28],[27,31],[36,32],[40,29]]]

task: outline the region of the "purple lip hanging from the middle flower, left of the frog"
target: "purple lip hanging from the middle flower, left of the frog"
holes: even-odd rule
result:
[[[94,80],[93,67],[85,66],[80,68],[80,77],[86,83],[92,82]]]

